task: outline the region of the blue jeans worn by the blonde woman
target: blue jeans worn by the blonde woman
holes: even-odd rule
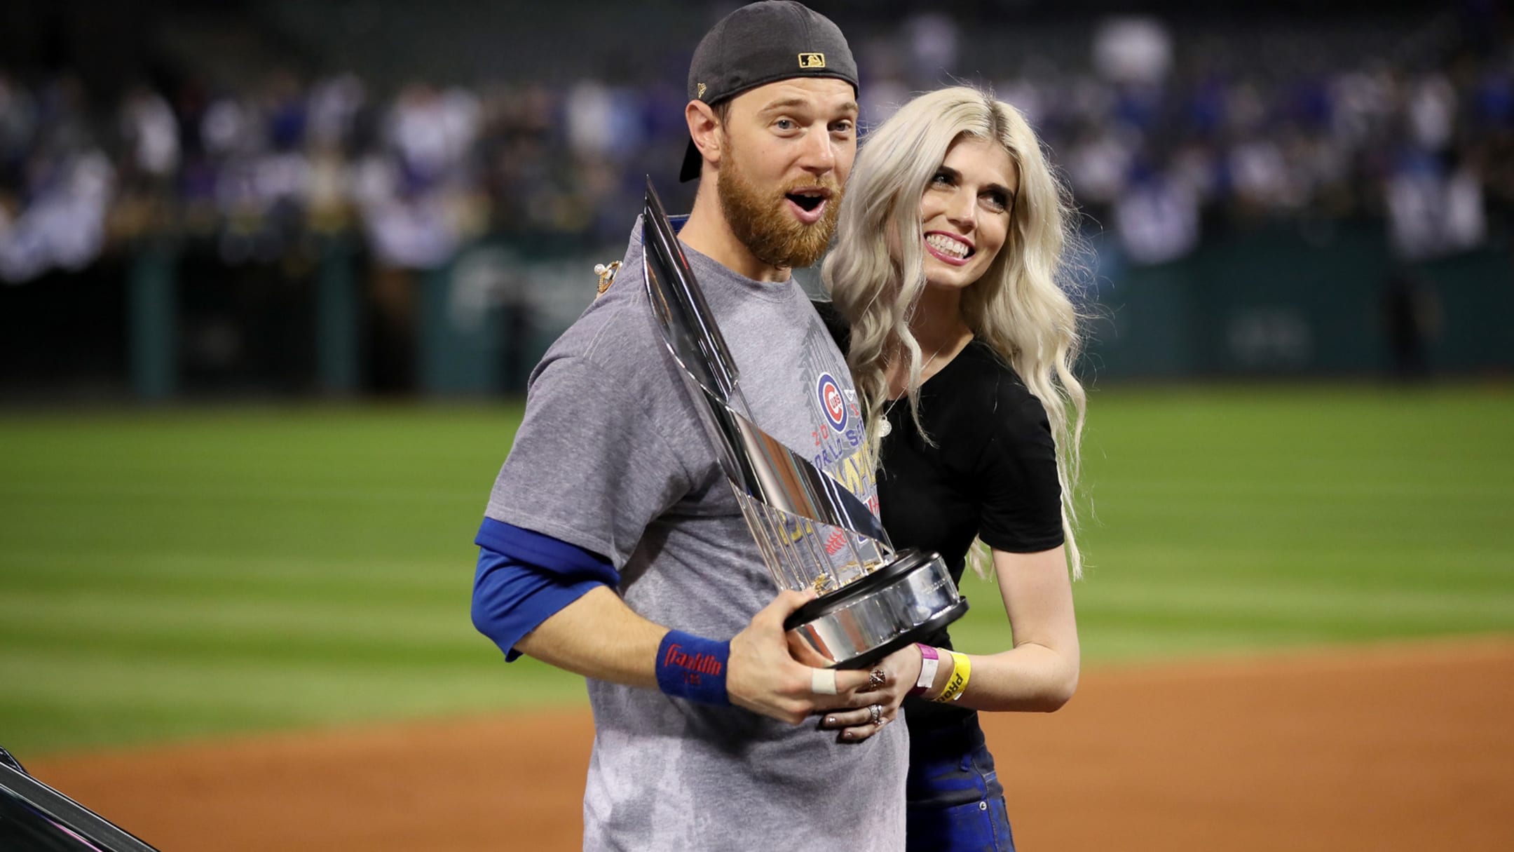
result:
[[[908,852],[1014,852],[1004,787],[978,716],[910,729]]]

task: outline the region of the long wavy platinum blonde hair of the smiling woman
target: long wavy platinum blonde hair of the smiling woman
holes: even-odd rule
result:
[[[925,290],[919,203],[946,150],[963,136],[1004,146],[1020,177],[1004,247],[983,277],[963,291],[963,320],[1046,409],[1057,440],[1067,562],[1078,578],[1083,555],[1073,538],[1073,490],[1087,394],[1072,373],[1083,346],[1083,321],[1067,294],[1076,271],[1067,261],[1076,240],[1073,208],[1025,117],[992,92],[970,86],[922,94],[899,108],[863,139],[846,183],[836,247],[821,276],[851,324],[846,362],[866,403],[869,443],[877,446],[880,437],[889,405],[887,374],[896,358],[908,362],[910,414],[919,428],[922,356],[910,334],[910,317]],[[898,240],[890,241],[890,235]],[[986,575],[987,549],[981,541],[974,556],[974,570]]]

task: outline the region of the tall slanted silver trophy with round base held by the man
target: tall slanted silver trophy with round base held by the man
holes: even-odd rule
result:
[[[646,294],[668,352],[757,552],[778,588],[819,593],[784,622],[790,638],[833,667],[864,669],[961,617],[967,602],[937,553],[895,553],[855,494],[752,423],[736,361],[650,179],[642,247]]]

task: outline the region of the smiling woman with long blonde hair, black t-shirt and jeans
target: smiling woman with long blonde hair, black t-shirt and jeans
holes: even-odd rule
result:
[[[964,86],[869,133],[846,196],[822,276],[880,446],[884,528],[958,581],[981,541],[974,567],[992,564],[1014,635],[964,655],[942,632],[889,661],[905,666],[898,679],[922,675],[904,703],[910,849],[1013,849],[977,711],[1054,711],[1078,684],[1070,200],[1025,118]],[[868,713],[822,726],[846,735]]]

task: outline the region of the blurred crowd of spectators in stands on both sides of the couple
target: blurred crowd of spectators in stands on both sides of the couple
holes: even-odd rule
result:
[[[901,50],[858,50],[863,124],[958,70],[945,17]],[[966,74],[1040,130],[1095,227],[1131,262],[1211,229],[1378,217],[1407,259],[1484,243],[1514,209],[1514,44],[1434,61],[1332,56],[1235,67],[1152,20],[1096,27],[1086,62]],[[581,79],[375,91],[276,71],[220,91],[135,85],[98,103],[67,74],[0,68],[0,280],[112,246],[212,241],[276,261],[359,233],[383,264],[433,268],[484,235],[624,240],[645,174],[672,186],[681,80]]]

